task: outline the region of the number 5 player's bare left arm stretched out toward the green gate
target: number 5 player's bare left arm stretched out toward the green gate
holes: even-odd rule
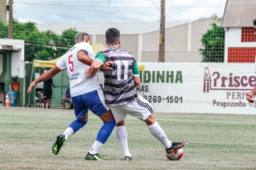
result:
[[[34,80],[28,87],[28,93],[31,93],[32,88],[36,86],[38,83],[42,81],[49,80],[50,78],[54,77],[56,74],[58,74],[61,70],[58,69],[56,66],[52,67],[51,70],[46,71],[44,74],[42,74],[39,78]]]

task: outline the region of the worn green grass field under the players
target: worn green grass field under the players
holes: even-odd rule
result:
[[[52,144],[75,120],[73,110],[0,107],[1,169],[256,169],[256,115],[156,114],[172,141],[187,139],[184,155],[169,161],[144,122],[128,116],[126,130],[134,161],[125,162],[115,131],[100,149],[105,161],[87,161],[102,122],[89,112],[88,123],[61,152]]]

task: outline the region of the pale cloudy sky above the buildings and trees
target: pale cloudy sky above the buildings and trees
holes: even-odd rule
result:
[[[222,17],[226,0],[165,0],[165,21]],[[13,0],[13,18],[38,24],[156,22],[161,0]]]

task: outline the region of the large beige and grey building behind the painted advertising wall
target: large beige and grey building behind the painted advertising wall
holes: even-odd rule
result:
[[[201,38],[212,23],[220,26],[220,21],[212,18],[193,22],[166,22],[165,24],[165,62],[201,62]],[[93,43],[105,45],[105,32],[115,27],[121,34],[121,48],[132,52],[139,62],[158,62],[159,22],[146,23],[90,23],[90,24],[37,24],[39,31],[51,30],[61,34],[64,30],[75,28],[85,31]],[[105,47],[107,47],[105,45]]]

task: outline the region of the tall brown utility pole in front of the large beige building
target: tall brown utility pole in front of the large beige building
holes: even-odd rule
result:
[[[161,0],[160,38],[158,62],[164,62],[165,0]]]

